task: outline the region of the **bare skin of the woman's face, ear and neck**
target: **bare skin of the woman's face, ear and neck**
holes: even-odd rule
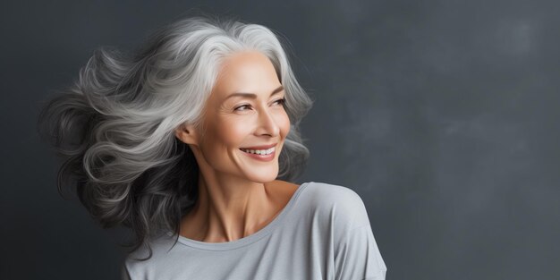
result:
[[[182,217],[180,234],[200,242],[232,242],[268,225],[298,185],[275,180],[278,156],[290,132],[279,99],[284,89],[273,64],[256,51],[228,56],[207,100],[204,133],[191,124],[175,136],[187,143],[199,164],[199,199]],[[233,93],[257,97],[230,97]],[[244,106],[243,106],[244,105]],[[248,157],[240,148],[277,143],[272,161]]]

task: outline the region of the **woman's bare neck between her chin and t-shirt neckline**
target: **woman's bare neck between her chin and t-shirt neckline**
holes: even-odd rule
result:
[[[199,199],[182,221],[182,235],[191,239],[238,240],[267,225],[280,210],[271,183],[199,174],[198,188]]]

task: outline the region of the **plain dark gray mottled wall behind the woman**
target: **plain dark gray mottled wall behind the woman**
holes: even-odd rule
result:
[[[204,3],[204,4],[202,4]],[[300,182],[368,207],[387,279],[560,277],[557,1],[2,3],[1,279],[118,277],[125,232],[55,189],[41,102],[192,7],[281,32],[316,100]]]

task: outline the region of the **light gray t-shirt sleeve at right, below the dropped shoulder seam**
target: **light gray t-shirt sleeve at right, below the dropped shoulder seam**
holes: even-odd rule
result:
[[[345,234],[339,246],[335,256],[335,279],[385,280],[387,268],[369,224]]]

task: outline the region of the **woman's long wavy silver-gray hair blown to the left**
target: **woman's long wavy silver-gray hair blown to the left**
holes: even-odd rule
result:
[[[183,123],[201,127],[219,65],[245,50],[267,55],[284,86],[292,127],[278,178],[300,175],[309,150],[298,126],[313,101],[296,81],[279,37],[259,24],[196,15],[157,31],[132,55],[99,48],[79,79],[48,100],[38,128],[64,158],[61,194],[64,186],[75,187],[102,227],[130,227],[132,250],[146,244],[151,258],[150,237],[178,236],[181,217],[198,199],[199,166],[174,130]]]

